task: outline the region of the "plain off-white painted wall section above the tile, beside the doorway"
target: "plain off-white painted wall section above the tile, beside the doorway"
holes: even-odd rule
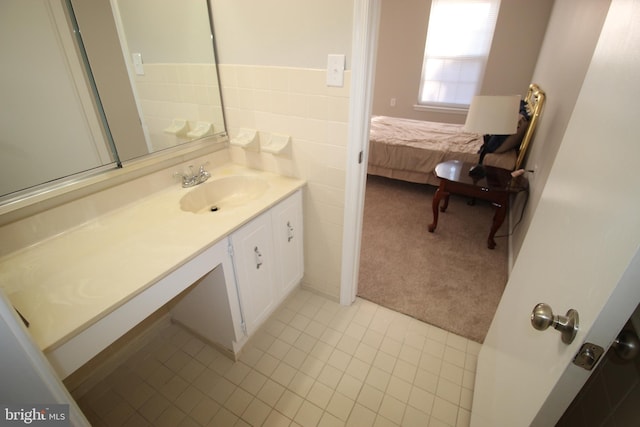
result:
[[[221,64],[323,69],[351,53],[353,1],[210,1]]]

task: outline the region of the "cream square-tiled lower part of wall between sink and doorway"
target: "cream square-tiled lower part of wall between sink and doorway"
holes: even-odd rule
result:
[[[351,73],[342,88],[325,70],[220,65],[227,130],[291,136],[290,156],[231,148],[234,162],[305,179],[303,285],[338,298],[342,256],[346,146]]]

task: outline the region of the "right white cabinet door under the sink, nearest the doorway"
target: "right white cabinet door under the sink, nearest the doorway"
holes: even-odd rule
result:
[[[273,243],[276,249],[276,286],[281,296],[288,294],[304,272],[302,239],[302,192],[272,210]]]

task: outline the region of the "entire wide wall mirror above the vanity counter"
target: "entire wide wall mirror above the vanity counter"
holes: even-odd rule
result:
[[[209,17],[207,0],[3,0],[0,205],[226,136]]]

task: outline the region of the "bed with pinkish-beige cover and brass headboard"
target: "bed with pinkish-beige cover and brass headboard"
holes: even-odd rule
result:
[[[518,133],[488,153],[484,164],[515,170],[524,160],[533,137],[545,94],[529,86]],[[367,173],[420,184],[438,185],[436,165],[448,160],[476,163],[484,144],[482,135],[468,133],[463,125],[387,116],[371,118]]]

